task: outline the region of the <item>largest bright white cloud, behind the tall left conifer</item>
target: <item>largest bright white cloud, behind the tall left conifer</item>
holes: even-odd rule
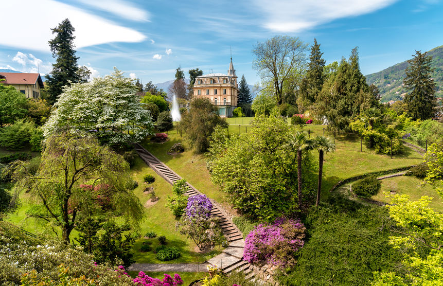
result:
[[[0,45],[4,46],[49,51],[48,41],[54,38],[50,29],[66,18],[76,29],[74,43],[77,48],[112,42],[134,43],[146,39],[144,34],[134,29],[54,0],[2,1],[2,11],[2,23],[14,23],[13,29],[2,29]],[[12,11],[20,11],[20,21]]]

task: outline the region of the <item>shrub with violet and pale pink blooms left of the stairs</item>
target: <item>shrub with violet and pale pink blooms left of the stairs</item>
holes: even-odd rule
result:
[[[177,223],[180,233],[191,238],[200,250],[214,245],[221,237],[218,218],[210,216],[211,209],[212,204],[206,195],[191,196],[185,216]]]

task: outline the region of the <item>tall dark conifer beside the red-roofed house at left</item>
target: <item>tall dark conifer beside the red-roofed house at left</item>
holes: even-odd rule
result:
[[[49,41],[52,57],[56,58],[56,63],[52,64],[52,71],[46,76],[48,83],[48,101],[54,103],[63,92],[62,86],[70,85],[70,82],[84,82],[89,77],[84,75],[84,70],[80,70],[74,50],[74,31],[68,19],[63,20],[56,28],[51,29],[56,37]]]

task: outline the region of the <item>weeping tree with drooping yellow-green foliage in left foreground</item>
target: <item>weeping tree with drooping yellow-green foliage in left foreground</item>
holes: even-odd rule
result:
[[[28,215],[49,223],[69,243],[80,219],[107,214],[121,216],[137,227],[143,206],[131,191],[129,164],[91,135],[70,130],[46,139],[36,171],[19,163],[15,191],[26,191],[34,204]]]

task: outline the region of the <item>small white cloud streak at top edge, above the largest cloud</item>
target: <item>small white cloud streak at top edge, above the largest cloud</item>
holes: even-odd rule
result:
[[[79,2],[97,9],[113,13],[128,20],[147,22],[149,13],[137,8],[132,3],[122,0],[79,0]]]

